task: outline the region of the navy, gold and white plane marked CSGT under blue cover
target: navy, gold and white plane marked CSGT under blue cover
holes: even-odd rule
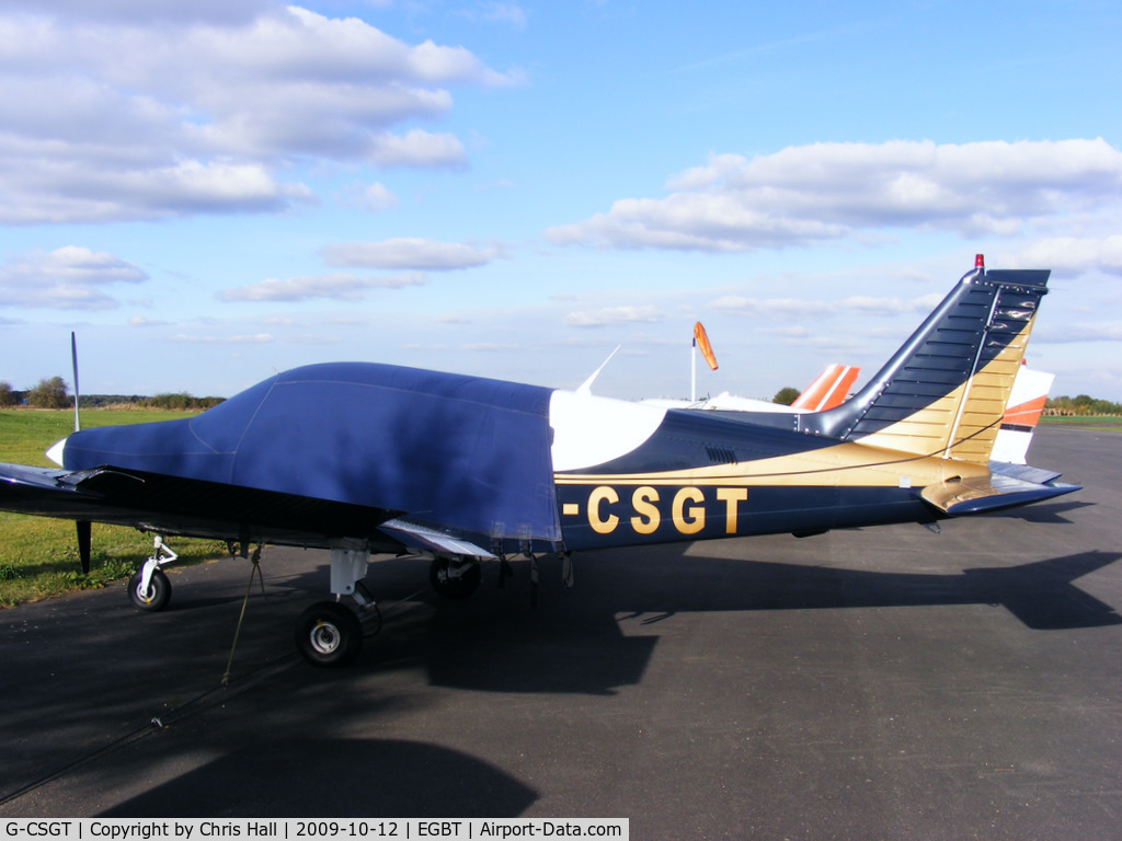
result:
[[[129,584],[163,608],[169,536],[322,547],[334,601],[296,643],[362,641],[371,553],[431,560],[463,598],[485,560],[931,523],[1078,490],[991,462],[1047,270],[980,259],[850,399],[824,412],[692,412],[479,377],[341,362],[278,373],[195,417],[75,432],[58,469],[0,464],[0,509],[156,535]],[[344,601],[344,597],[347,601]],[[353,607],[351,607],[351,604]]]

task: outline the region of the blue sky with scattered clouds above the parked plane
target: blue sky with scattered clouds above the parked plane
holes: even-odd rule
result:
[[[983,252],[1122,400],[1111,2],[9,0],[0,380],[368,360],[599,394],[871,375]]]

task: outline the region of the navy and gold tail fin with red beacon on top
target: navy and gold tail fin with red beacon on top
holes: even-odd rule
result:
[[[985,464],[1024,355],[1048,270],[963,276],[850,400],[795,416],[806,432]]]

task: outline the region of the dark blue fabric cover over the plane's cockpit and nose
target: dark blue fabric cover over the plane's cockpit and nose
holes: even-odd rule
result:
[[[70,470],[112,465],[557,542],[550,395],[394,366],[307,366],[194,418],[75,433],[64,458]]]

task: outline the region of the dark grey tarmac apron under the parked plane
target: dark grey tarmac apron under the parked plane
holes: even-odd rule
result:
[[[0,612],[0,816],[603,816],[637,839],[1122,837],[1122,435],[1003,516],[542,561],[469,601],[371,564],[381,632],[315,669],[324,553]]]

